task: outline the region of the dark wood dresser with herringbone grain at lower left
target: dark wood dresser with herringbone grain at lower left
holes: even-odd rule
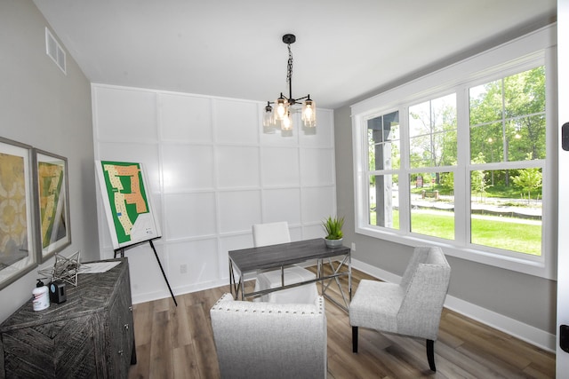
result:
[[[65,303],[34,312],[30,299],[0,325],[0,378],[128,376],[136,363],[131,283],[127,258],[115,260],[108,272],[67,284]]]

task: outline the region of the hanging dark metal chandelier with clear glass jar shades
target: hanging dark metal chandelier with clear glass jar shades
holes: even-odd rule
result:
[[[288,97],[281,95],[275,101],[268,101],[263,116],[263,130],[265,133],[273,133],[280,126],[281,135],[290,137],[293,135],[293,118],[292,113],[295,110],[293,106],[302,104],[302,126],[305,130],[314,130],[317,126],[317,108],[314,100],[310,99],[310,95],[302,98],[293,98],[293,51],[291,51],[291,43],[296,41],[294,35],[284,35],[283,42],[288,47],[288,65],[286,67],[286,83],[288,83]],[[302,101],[304,100],[304,101]],[[271,107],[274,104],[275,107]],[[314,133],[312,131],[311,133]]]

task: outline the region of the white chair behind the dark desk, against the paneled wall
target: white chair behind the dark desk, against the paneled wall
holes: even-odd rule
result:
[[[290,242],[291,235],[288,230],[288,223],[283,221],[252,225],[252,241],[255,248]],[[314,272],[310,272],[299,265],[284,268],[284,285],[299,283],[305,280],[314,280],[316,277]],[[282,278],[280,269],[257,272],[255,291],[281,287],[281,284]],[[267,295],[257,297],[255,300],[280,304],[314,304],[317,296],[317,283],[314,282],[299,287],[271,292]]]

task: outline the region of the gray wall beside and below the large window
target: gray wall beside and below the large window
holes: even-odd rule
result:
[[[346,217],[344,244],[356,243],[355,259],[401,276],[413,248],[356,234],[354,166],[350,108],[334,110],[338,214]],[[449,295],[555,334],[556,282],[523,273],[448,257]]]

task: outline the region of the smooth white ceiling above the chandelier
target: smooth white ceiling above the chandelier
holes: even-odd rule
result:
[[[34,0],[92,83],[336,108],[556,20],[557,0]]]

